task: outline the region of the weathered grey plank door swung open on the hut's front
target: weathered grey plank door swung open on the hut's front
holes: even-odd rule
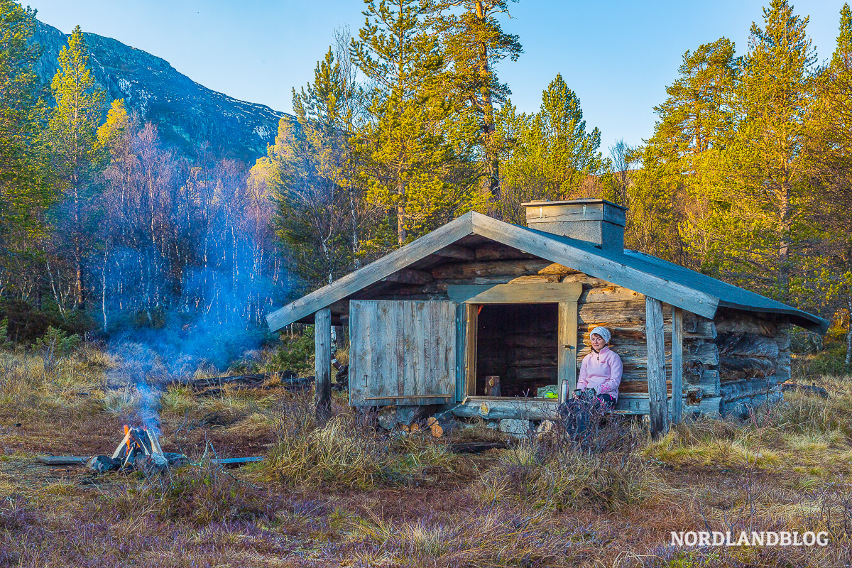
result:
[[[452,402],[456,304],[349,302],[349,404]]]

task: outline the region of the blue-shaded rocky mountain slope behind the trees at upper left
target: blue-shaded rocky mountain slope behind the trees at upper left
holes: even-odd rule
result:
[[[107,108],[112,100],[124,99],[128,111],[155,123],[164,141],[187,154],[204,151],[253,163],[274,141],[279,120],[290,116],[207,89],[167,61],[111,37],[83,35],[95,81],[107,90]],[[55,75],[67,38],[55,27],[37,22],[33,41],[42,45],[43,53],[36,72],[44,83],[50,84]]]

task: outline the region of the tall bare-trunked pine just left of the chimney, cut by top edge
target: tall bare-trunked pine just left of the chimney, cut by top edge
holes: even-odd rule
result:
[[[507,0],[438,0],[432,4],[435,27],[450,66],[448,89],[475,121],[473,143],[480,162],[481,192],[495,209],[500,198],[500,146],[495,113],[511,91],[495,67],[523,52],[518,36],[503,31],[498,14],[509,14]],[[458,9],[461,9],[460,12]]]

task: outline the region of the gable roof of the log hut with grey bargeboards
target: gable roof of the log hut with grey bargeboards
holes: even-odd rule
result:
[[[696,273],[635,250],[601,250],[594,244],[550,232],[520,227],[470,211],[366,267],[314,290],[267,316],[270,330],[279,330],[335,301],[375,284],[428,255],[469,235],[479,235],[545,260],[572,267],[640,294],[713,318],[717,307],[752,312],[786,313],[792,322],[825,333],[826,320],[705,274]]]

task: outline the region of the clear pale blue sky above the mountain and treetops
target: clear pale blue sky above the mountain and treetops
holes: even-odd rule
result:
[[[769,0],[766,0],[769,3]],[[25,0],[26,4],[26,0]],[[291,111],[291,88],[313,77],[337,26],[364,22],[361,0],[31,0],[43,22],[70,32],[114,37],[162,57],[210,89]],[[793,2],[809,14],[820,60],[830,57],[843,0]],[[524,53],[499,74],[521,111],[561,73],[583,103],[586,122],[602,131],[602,150],[619,138],[638,144],[653,133],[653,106],[677,75],[683,53],[728,37],[746,48],[762,2],[751,0],[607,0],[511,5],[504,30]]]

